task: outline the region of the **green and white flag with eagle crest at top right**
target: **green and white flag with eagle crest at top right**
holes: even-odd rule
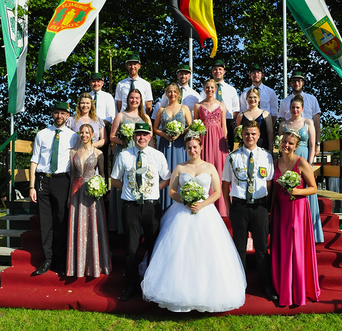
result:
[[[286,0],[312,45],[342,78],[342,42],[325,0]]]

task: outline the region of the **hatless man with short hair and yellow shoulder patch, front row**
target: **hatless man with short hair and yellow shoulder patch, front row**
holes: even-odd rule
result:
[[[274,176],[273,159],[267,150],[256,146],[259,136],[260,127],[256,121],[248,120],[243,123],[243,147],[231,152],[225,159],[222,194],[227,215],[232,222],[233,241],[244,269],[246,270],[247,236],[248,231],[251,231],[263,293],[268,300],[276,300],[278,296],[272,288],[267,250],[269,222],[267,200]]]

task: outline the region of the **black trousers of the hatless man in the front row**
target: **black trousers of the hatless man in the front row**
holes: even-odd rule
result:
[[[246,270],[246,248],[248,231],[252,232],[256,267],[263,288],[272,285],[270,260],[267,250],[268,209],[267,204],[247,204],[234,201],[230,206],[229,218],[232,222],[233,241]]]

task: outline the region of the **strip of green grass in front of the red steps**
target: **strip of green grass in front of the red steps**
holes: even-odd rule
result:
[[[342,314],[296,316],[113,315],[0,308],[1,331],[338,331]]]

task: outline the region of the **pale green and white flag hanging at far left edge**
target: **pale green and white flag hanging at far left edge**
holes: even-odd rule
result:
[[[18,11],[15,6],[21,6]],[[26,54],[27,54],[27,9],[26,0],[0,0],[1,29],[5,45],[7,79],[8,79],[8,112],[16,114],[24,111]],[[21,15],[18,17],[16,13]]]

